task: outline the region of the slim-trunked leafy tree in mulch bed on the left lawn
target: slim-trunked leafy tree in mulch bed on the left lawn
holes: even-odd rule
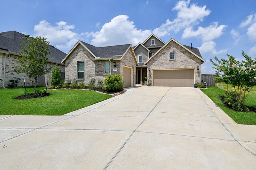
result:
[[[20,66],[16,67],[18,73],[26,73],[29,77],[34,77],[34,95],[36,95],[36,84],[38,77],[46,74],[50,69],[47,68],[49,42],[42,37],[29,37],[24,35],[22,47],[19,51],[21,56],[18,59]]]

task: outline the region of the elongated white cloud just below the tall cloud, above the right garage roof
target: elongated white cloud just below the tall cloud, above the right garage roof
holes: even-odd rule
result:
[[[188,27],[184,30],[182,38],[200,37],[203,42],[212,41],[215,38],[220,37],[223,33],[223,29],[226,25],[218,26],[218,22],[214,22],[208,27],[198,27],[198,30],[194,31],[192,27]]]

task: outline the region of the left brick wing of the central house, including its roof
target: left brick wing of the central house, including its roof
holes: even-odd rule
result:
[[[97,84],[109,74],[121,74],[125,87],[135,86],[138,63],[130,44],[95,47],[78,41],[62,63],[66,64],[65,80],[84,81],[87,86],[92,78]]]

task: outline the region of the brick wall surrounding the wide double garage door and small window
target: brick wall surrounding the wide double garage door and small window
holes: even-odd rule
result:
[[[170,60],[170,53],[175,51],[175,60]],[[194,56],[192,53],[185,50],[183,47],[171,41],[164,49],[162,49],[154,58],[147,63],[150,71],[148,72],[148,78],[153,78],[154,69],[182,69],[193,68],[195,75],[195,82],[201,82],[201,60]],[[199,70],[197,70],[199,66]],[[151,80],[152,81],[152,80]]]

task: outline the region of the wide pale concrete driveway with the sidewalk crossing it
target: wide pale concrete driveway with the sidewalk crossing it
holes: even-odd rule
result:
[[[256,126],[196,88],[137,86],[62,116],[0,116],[4,170],[255,167]]]

